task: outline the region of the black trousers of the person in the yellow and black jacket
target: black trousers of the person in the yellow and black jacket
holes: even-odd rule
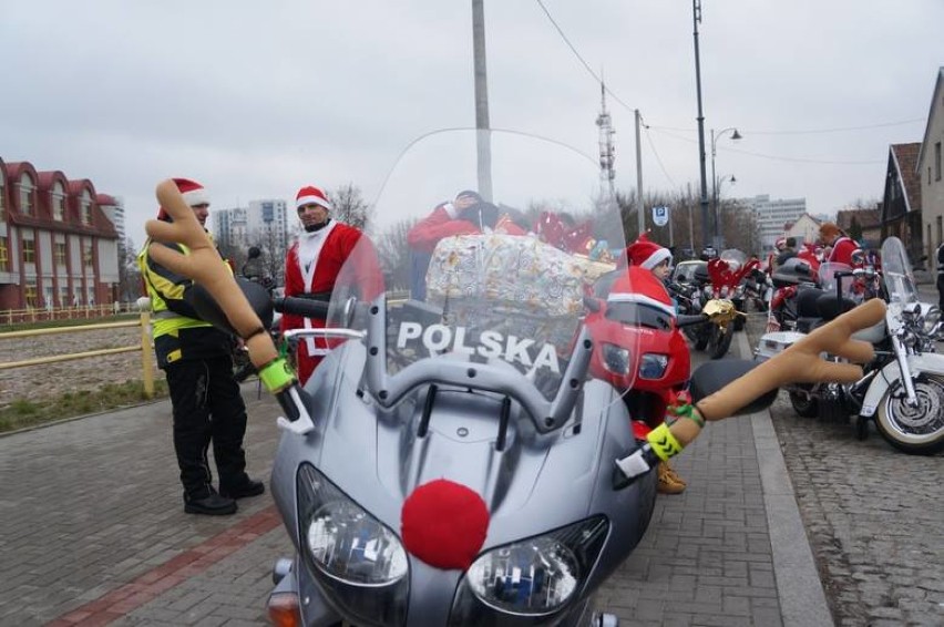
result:
[[[188,500],[213,492],[213,473],[207,452],[219,474],[219,485],[244,485],[246,453],[246,404],[233,378],[229,356],[170,363],[164,369],[174,413],[174,451],[181,469],[181,483]]]

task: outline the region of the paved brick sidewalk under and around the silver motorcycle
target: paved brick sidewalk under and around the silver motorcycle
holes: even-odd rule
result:
[[[244,394],[248,470],[267,479],[278,409]],[[769,425],[712,424],[678,459],[688,490],[658,497],[598,607],[624,626],[832,625]],[[271,500],[184,514],[167,401],[0,438],[0,625],[266,624],[290,552]]]

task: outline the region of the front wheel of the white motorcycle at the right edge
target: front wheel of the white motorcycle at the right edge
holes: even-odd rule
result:
[[[889,388],[879,403],[875,426],[889,444],[912,455],[944,451],[944,380],[914,381],[917,402],[907,403],[901,381]]]

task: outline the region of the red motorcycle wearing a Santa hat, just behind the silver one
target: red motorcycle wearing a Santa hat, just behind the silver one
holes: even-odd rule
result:
[[[587,306],[586,327],[594,341],[591,374],[623,392],[635,420],[657,426],[691,371],[681,327],[706,323],[707,316],[677,316],[663,284],[637,266],[620,270],[606,300],[587,298]]]

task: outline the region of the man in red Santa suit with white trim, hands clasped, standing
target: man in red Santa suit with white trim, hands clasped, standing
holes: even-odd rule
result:
[[[308,185],[299,189],[295,206],[304,230],[285,259],[285,296],[327,302],[331,299],[341,266],[360,239],[361,232],[331,219],[331,202],[318,187]],[[286,314],[281,317],[280,330],[324,327],[324,319]],[[299,342],[297,371],[302,386],[330,350],[330,343],[324,338],[306,338]]]

